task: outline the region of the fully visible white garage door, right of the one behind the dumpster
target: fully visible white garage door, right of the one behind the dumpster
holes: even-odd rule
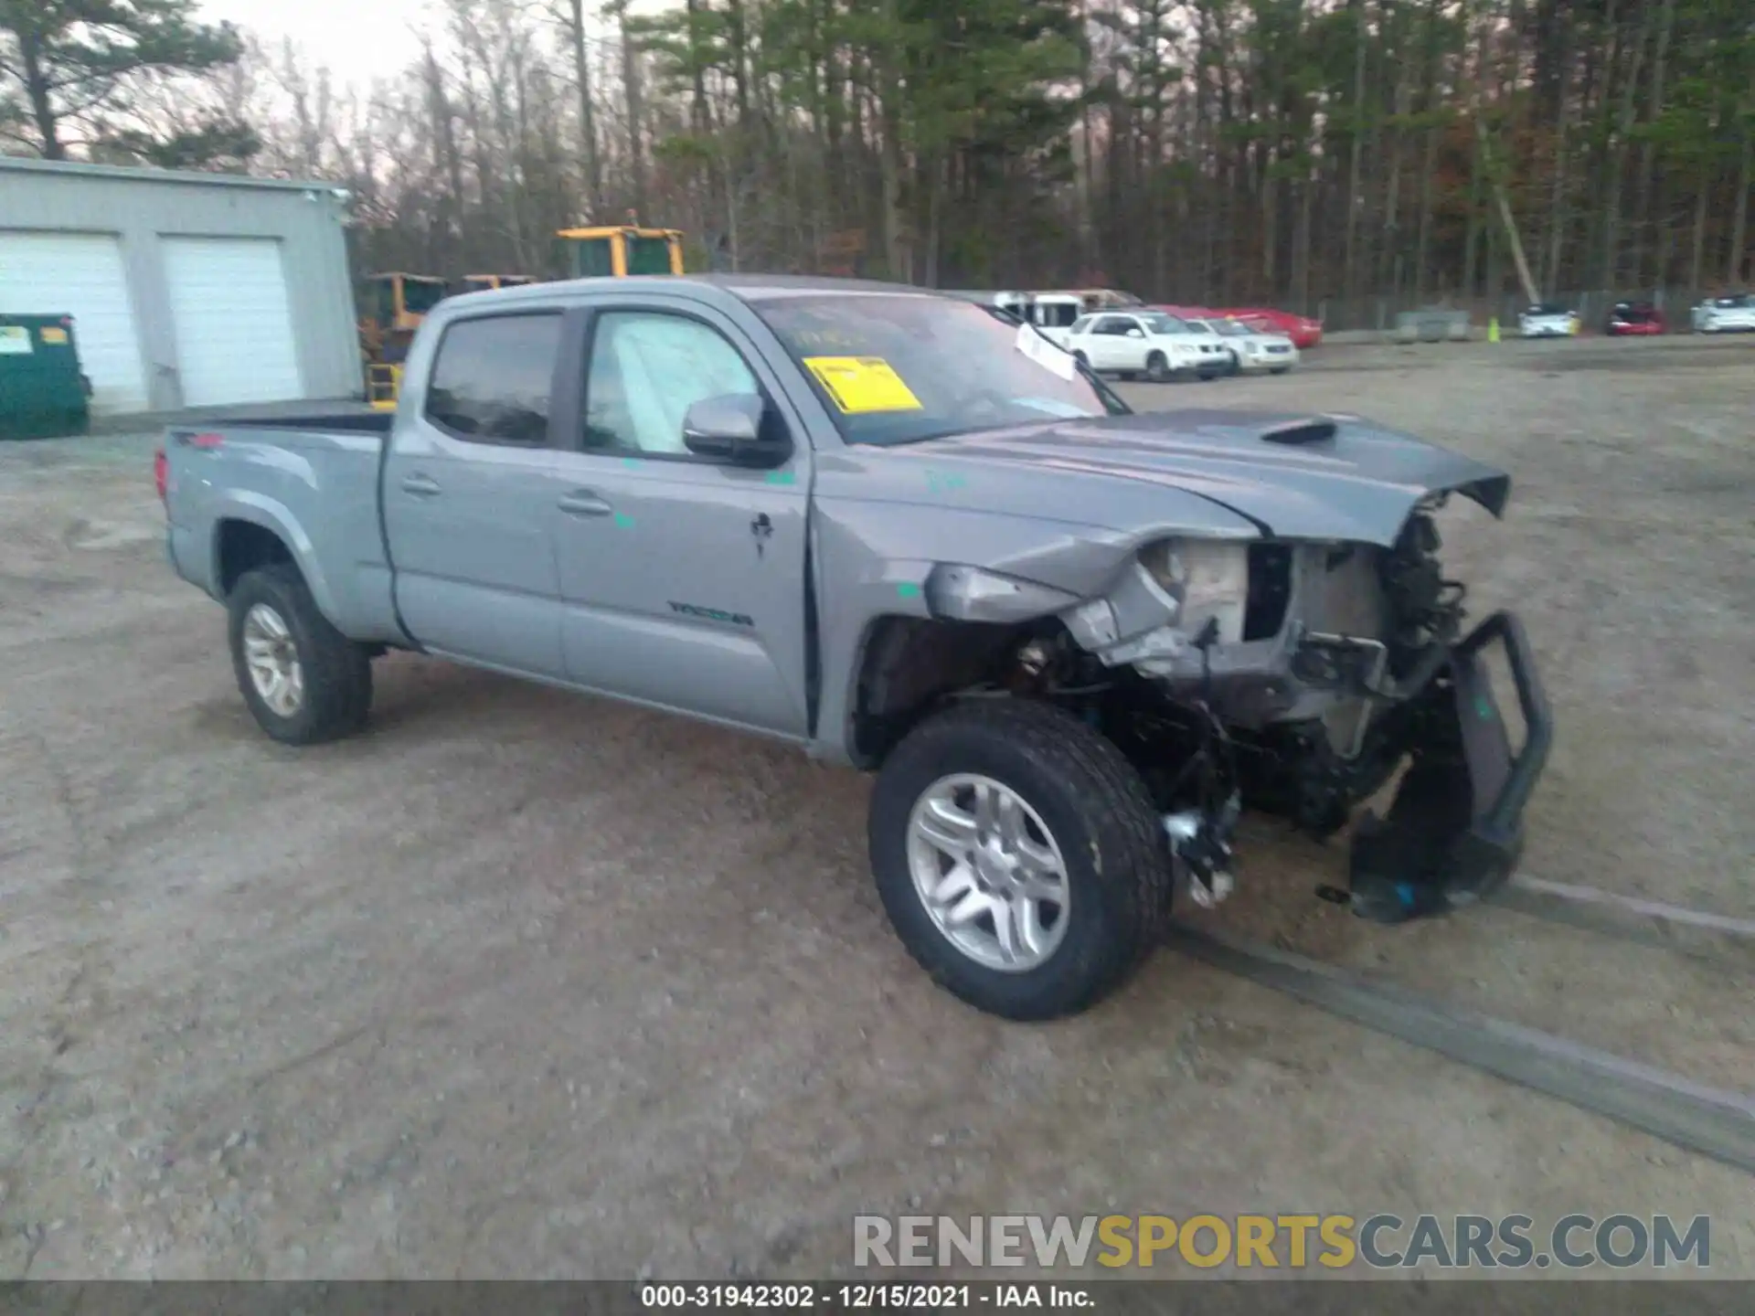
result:
[[[281,244],[260,237],[167,237],[160,249],[183,404],[304,397]]]

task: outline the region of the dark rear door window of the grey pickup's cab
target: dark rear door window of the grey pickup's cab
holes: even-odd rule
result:
[[[474,442],[546,444],[560,330],[558,312],[446,328],[426,383],[426,419]]]

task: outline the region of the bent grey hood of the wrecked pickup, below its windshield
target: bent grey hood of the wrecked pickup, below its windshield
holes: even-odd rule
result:
[[[1334,437],[1278,442],[1283,426],[1327,419]],[[1495,468],[1353,416],[1239,411],[1158,411],[951,435],[890,449],[925,465],[1006,465],[1107,476],[1200,495],[1279,539],[1393,544],[1415,505],[1457,491],[1501,516],[1511,477]],[[1106,525],[1086,505],[1069,519]],[[999,509],[995,509],[999,511]]]

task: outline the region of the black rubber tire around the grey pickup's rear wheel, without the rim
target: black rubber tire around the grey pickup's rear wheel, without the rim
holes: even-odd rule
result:
[[[256,604],[281,614],[298,654],[304,698],[286,718],[263,702],[244,662],[244,618]],[[274,563],[246,572],[226,595],[226,612],[237,688],[263,732],[281,744],[321,744],[365,725],[372,707],[372,660],[365,646],[330,625],[295,567]]]

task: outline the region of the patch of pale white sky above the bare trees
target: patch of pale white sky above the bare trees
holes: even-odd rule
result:
[[[428,0],[200,0],[200,14],[209,23],[237,23],[270,47],[291,37],[314,61],[360,86],[416,60],[414,30],[430,21]]]

